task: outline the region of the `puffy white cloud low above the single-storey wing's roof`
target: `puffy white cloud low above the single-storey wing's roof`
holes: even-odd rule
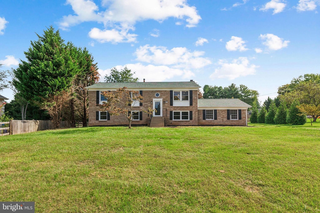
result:
[[[254,75],[256,68],[259,66],[251,65],[247,57],[239,57],[228,63],[227,60],[221,59],[218,64],[219,68],[215,69],[210,75],[212,80],[216,78],[228,78],[229,80],[236,79],[240,76]]]

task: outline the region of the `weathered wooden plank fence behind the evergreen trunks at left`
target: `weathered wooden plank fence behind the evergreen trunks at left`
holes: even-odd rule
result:
[[[68,121],[61,121],[61,128],[70,128]],[[10,134],[31,133],[41,130],[53,129],[50,120],[12,120],[10,121]]]

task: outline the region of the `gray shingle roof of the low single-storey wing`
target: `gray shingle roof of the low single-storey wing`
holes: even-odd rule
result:
[[[251,107],[237,98],[198,99],[198,107]]]

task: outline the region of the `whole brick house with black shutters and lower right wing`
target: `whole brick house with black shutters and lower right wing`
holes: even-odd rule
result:
[[[196,126],[241,125],[246,126],[247,109],[251,107],[239,99],[198,99],[200,86],[193,80],[187,82],[100,82],[89,90],[89,126],[127,125],[123,116],[110,116],[97,104],[106,101],[100,93],[127,87],[139,91],[142,103],[133,103],[132,125]],[[137,110],[134,110],[136,107]],[[156,109],[153,115],[139,111],[148,107]],[[152,117],[152,119],[150,119]]]

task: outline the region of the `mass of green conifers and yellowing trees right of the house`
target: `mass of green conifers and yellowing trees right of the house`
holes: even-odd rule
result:
[[[251,123],[303,125],[320,116],[320,75],[305,74],[278,88],[278,96],[259,106],[252,106]]]

